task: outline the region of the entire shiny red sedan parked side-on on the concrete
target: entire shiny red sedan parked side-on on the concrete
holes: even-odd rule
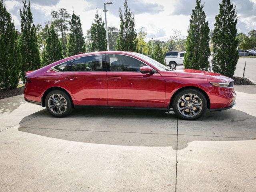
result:
[[[171,70],[134,52],[71,56],[26,73],[24,98],[64,117],[78,106],[174,110],[185,120],[232,108],[234,81],[190,69]]]

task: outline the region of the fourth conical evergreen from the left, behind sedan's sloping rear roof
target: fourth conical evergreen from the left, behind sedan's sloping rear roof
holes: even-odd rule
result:
[[[72,56],[80,52],[84,52],[85,42],[80,17],[77,16],[74,12],[69,24],[70,34],[68,38],[66,54],[67,56]]]

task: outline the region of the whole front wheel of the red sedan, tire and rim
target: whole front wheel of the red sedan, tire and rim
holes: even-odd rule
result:
[[[195,120],[204,114],[207,101],[202,92],[196,89],[186,89],[175,96],[172,106],[179,118]]]

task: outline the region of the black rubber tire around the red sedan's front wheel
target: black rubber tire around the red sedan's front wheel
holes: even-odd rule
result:
[[[179,102],[180,98],[186,94],[194,94],[195,95],[194,99],[192,99],[192,102],[190,102],[190,105],[192,105],[190,107],[190,109],[187,108],[189,104],[186,104],[186,106],[185,106],[185,103]],[[198,99],[196,96],[198,96],[200,99]],[[186,97],[185,97],[185,99],[186,99]],[[189,103],[189,100],[186,100],[186,101]],[[200,100],[202,102],[202,105],[200,105],[201,111],[200,111],[199,107],[193,107],[194,105],[200,103]],[[182,110],[184,115],[178,109],[178,104],[180,105],[182,103],[184,104],[184,106],[180,106],[180,108],[186,107],[186,109],[184,111]],[[173,107],[173,110],[174,110],[176,116],[178,116],[178,118],[183,119],[183,120],[195,120],[195,119],[201,117],[205,113],[206,108],[207,108],[207,101],[206,101],[204,94],[202,92],[200,92],[199,90],[186,89],[186,90],[182,90],[182,91],[178,92],[178,94],[176,94],[174,100],[172,101],[172,107]],[[195,110],[193,110],[193,109],[195,109]],[[188,110],[188,112],[186,110]],[[195,116],[186,116],[186,115],[189,115],[190,110],[193,110],[193,114],[196,114],[196,113],[198,113],[198,114],[196,114]],[[196,112],[196,113],[194,113],[194,112]]]

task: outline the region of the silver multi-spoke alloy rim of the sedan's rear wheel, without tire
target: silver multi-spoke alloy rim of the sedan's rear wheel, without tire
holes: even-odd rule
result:
[[[52,94],[48,99],[48,107],[54,114],[62,114],[66,111],[68,103],[61,94]]]

